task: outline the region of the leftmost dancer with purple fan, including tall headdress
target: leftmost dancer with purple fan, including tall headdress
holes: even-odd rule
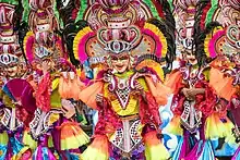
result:
[[[17,30],[21,27],[21,5],[19,1],[0,2],[0,67],[2,82],[0,98],[2,101],[0,134],[2,153],[0,158],[7,160],[28,159],[31,157],[28,146],[24,147],[22,143],[22,134],[24,130],[27,130],[27,123],[32,120],[31,112],[36,107],[31,96],[32,87],[24,79],[27,77],[28,69],[19,42],[21,40]],[[29,100],[28,103],[26,103],[27,100]]]

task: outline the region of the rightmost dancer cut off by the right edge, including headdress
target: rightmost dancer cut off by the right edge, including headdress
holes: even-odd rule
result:
[[[204,44],[206,53],[215,58],[211,63],[211,85],[215,88],[220,98],[228,101],[229,118],[235,123],[233,134],[236,141],[240,139],[240,95],[239,95],[239,36],[238,35],[240,12],[239,2],[224,0],[218,2],[219,8],[215,9],[212,15],[213,21],[218,21],[217,26],[211,32]],[[207,46],[207,44],[209,44]],[[240,157],[240,147],[233,159]]]

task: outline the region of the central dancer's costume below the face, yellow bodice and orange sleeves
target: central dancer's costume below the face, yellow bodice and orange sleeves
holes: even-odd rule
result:
[[[124,153],[130,153],[144,141],[147,159],[159,158],[159,155],[154,153],[158,149],[161,152],[166,152],[161,155],[163,158],[160,159],[167,159],[168,152],[156,136],[156,126],[160,124],[158,107],[167,101],[167,95],[156,95],[157,103],[151,90],[164,89],[166,90],[165,94],[170,91],[163,87],[157,79],[155,79],[157,81],[156,83],[153,83],[152,77],[146,77],[148,84],[145,82],[144,76],[135,79],[134,77],[137,77],[137,73],[133,71],[127,71],[123,74],[112,74],[110,71],[106,71],[99,74],[101,76],[98,76],[96,83],[79,93],[79,99],[87,106],[99,110],[99,120],[95,128],[94,140],[82,155],[82,159],[108,159],[109,141]],[[105,76],[103,77],[103,75]],[[147,99],[148,103],[144,101],[143,97],[140,99],[141,93],[131,88],[134,87],[134,83],[140,83],[144,87],[145,100]],[[132,86],[130,87],[128,84],[132,84]],[[117,88],[109,90],[112,85]],[[119,88],[121,85],[123,85],[122,88]],[[151,87],[149,89],[148,86]],[[129,93],[124,94],[124,89],[128,89]],[[118,90],[119,93],[117,93]],[[103,106],[96,104],[97,94],[103,94],[105,97]],[[141,128],[143,132],[141,132]],[[142,136],[144,137],[143,139]]]

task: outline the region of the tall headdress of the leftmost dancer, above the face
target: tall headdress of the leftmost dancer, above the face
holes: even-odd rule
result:
[[[0,65],[4,69],[9,66],[21,66],[24,69],[24,57],[21,49],[19,28],[21,21],[21,1],[0,2]]]

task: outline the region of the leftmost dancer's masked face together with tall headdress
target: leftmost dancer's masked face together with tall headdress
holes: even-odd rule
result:
[[[0,67],[7,77],[21,77],[26,72],[23,52],[14,24],[15,4],[0,3]]]

